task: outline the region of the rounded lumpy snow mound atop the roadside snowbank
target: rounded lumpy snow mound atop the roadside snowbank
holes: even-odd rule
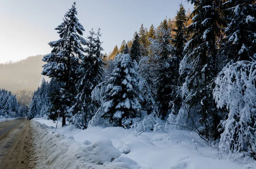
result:
[[[82,149],[83,152],[90,152],[87,159],[93,163],[103,164],[112,162],[115,158],[121,156],[121,152],[116,149],[109,139],[99,140],[96,143],[88,145]]]

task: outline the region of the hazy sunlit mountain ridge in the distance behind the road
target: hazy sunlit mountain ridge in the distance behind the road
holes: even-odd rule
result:
[[[0,64],[0,89],[17,91],[29,89],[34,91],[41,84],[43,70],[43,55],[27,57],[26,59]]]

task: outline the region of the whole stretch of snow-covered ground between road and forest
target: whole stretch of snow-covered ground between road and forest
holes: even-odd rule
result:
[[[81,130],[73,125],[61,128],[59,123],[56,130],[38,122],[47,126],[56,123],[44,118],[32,120],[35,134],[42,142],[41,151],[49,156],[45,163],[53,168],[256,169],[250,158],[234,157],[236,163],[218,159],[215,148],[206,146],[195,132],[170,130],[134,136],[133,131],[121,127]]]

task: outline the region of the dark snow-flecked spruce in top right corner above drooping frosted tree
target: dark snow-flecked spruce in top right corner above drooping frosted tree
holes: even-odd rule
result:
[[[221,55],[227,62],[251,60],[256,53],[256,1],[227,0],[223,8],[226,22]]]

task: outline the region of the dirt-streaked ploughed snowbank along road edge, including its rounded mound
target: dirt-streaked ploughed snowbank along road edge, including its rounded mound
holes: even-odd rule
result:
[[[127,163],[113,161],[121,152],[111,140],[86,145],[35,120],[31,126],[38,154],[37,169],[131,169]]]

